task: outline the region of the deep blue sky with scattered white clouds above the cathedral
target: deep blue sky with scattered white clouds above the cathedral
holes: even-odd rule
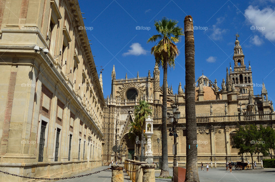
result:
[[[212,2],[212,3],[210,3]],[[218,86],[226,77],[226,67],[233,65],[235,34],[245,55],[250,60],[254,94],[261,94],[262,80],[268,98],[275,101],[275,0],[258,1],[84,1],[80,0],[82,17],[93,52],[97,70],[103,66],[103,92],[105,98],[111,93],[111,71],[115,65],[116,78],[151,75],[154,56],[150,54],[153,43],[146,41],[158,34],[154,21],[162,17],[178,21],[184,27],[184,17],[193,17],[195,37],[196,78],[204,75]],[[137,27],[139,26],[139,27]],[[180,55],[175,68],[168,70],[168,85],[178,91],[179,82],[185,82],[184,37],[177,44]],[[232,66],[233,68],[233,66]],[[162,70],[160,85],[162,85]]]

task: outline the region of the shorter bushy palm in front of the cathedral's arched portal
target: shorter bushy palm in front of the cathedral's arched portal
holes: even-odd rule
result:
[[[139,105],[134,107],[134,115],[135,119],[130,124],[129,130],[129,139],[135,141],[135,137],[138,136],[140,140],[143,139],[144,128],[145,128],[145,120],[149,115],[152,115],[152,109],[150,109],[151,105],[145,101],[140,100]]]

